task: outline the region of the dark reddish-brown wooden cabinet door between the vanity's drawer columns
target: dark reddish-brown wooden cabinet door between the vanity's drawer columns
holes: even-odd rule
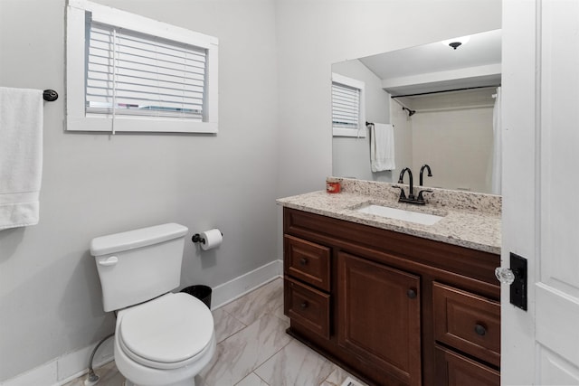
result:
[[[338,344],[401,383],[420,385],[420,278],[345,252],[337,261]]]

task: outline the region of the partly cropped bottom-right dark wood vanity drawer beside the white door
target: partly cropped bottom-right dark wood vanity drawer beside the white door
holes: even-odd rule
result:
[[[500,373],[451,350],[435,347],[436,379],[434,384],[448,386],[499,386]]]

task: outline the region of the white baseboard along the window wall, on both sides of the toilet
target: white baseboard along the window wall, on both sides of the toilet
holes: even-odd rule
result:
[[[274,260],[260,268],[233,278],[213,288],[212,309],[224,306],[238,297],[261,287],[274,278],[280,278],[283,272],[283,261]],[[66,353],[59,358],[46,362],[29,372],[24,372],[0,383],[0,386],[30,386],[52,385],[62,386],[88,372],[90,354],[97,344],[81,348],[72,353]],[[99,352],[94,357],[93,367],[96,369],[114,359],[112,338],[100,345]]]

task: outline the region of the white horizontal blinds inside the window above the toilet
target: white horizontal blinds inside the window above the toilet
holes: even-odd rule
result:
[[[203,48],[90,22],[86,113],[203,121]]]

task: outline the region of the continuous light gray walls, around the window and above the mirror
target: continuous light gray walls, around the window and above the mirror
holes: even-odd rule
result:
[[[183,285],[215,286],[279,258],[274,199],[323,189],[331,174],[331,63],[496,29],[501,7],[500,0],[99,2],[220,39],[220,133],[65,133],[64,0],[0,0],[0,85],[62,96],[45,105],[41,222],[0,232],[0,380],[112,330],[88,253],[94,236],[163,221],[191,232],[219,226],[219,249],[200,255],[186,244]]]

